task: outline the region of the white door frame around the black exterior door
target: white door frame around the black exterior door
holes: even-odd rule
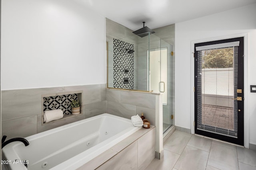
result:
[[[231,39],[231,38],[237,38],[237,37],[244,37],[244,147],[249,148],[249,111],[248,111],[248,102],[247,102],[247,96],[248,96],[248,60],[247,60],[247,54],[248,54],[248,33],[240,33],[235,35],[227,35],[222,37],[213,37],[208,39],[200,39],[196,41],[191,41],[191,134],[195,134],[194,130],[194,115],[195,115],[195,104],[194,104],[194,45],[196,43],[203,43],[208,41],[218,41],[222,39]]]

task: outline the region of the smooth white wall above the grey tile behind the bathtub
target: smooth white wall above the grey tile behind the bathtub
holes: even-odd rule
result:
[[[106,83],[105,18],[72,0],[2,0],[2,90]]]

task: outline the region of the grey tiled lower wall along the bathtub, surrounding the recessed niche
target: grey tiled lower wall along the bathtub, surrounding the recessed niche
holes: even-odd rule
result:
[[[41,125],[42,94],[83,91],[83,114]],[[27,137],[106,113],[106,84],[2,91],[2,135]]]

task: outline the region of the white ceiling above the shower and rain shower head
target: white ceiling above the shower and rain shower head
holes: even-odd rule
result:
[[[132,30],[200,18],[256,3],[256,0],[74,0]],[[238,11],[239,12],[239,11]]]

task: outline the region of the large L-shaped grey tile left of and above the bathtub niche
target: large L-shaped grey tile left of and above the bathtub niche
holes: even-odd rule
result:
[[[2,121],[42,112],[42,94],[64,92],[64,87],[2,91]]]

